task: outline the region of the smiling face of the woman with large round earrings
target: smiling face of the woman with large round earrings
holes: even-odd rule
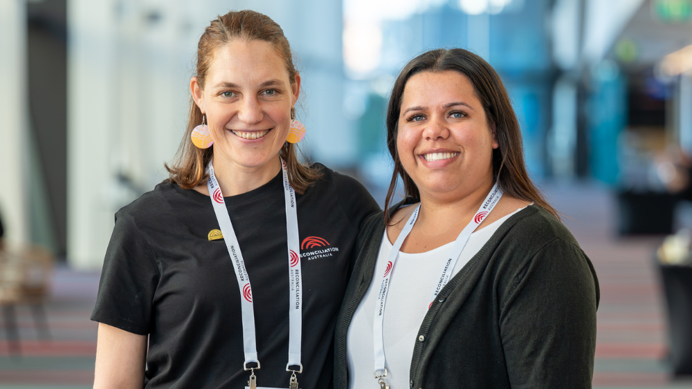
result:
[[[201,88],[190,82],[192,97],[206,114],[214,140],[215,168],[257,168],[278,160],[289,134],[291,108],[298,100],[300,76],[291,84],[284,60],[272,44],[233,39],[215,50]]]

